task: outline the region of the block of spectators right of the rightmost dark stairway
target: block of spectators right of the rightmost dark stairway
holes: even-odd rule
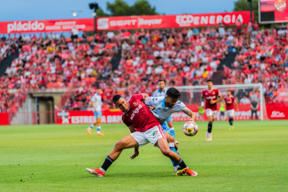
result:
[[[251,31],[228,44],[239,54],[230,67],[224,66],[223,84],[262,83],[266,103],[285,102],[277,90],[288,82],[287,30]]]

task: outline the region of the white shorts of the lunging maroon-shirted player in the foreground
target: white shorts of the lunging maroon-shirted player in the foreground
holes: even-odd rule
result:
[[[161,125],[155,126],[151,129],[148,129],[145,132],[136,131],[130,134],[139,144],[139,147],[146,145],[147,143],[152,143],[155,146],[159,138],[166,138],[166,135],[163,133]]]

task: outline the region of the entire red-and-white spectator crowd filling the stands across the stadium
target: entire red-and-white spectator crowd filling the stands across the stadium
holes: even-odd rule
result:
[[[286,37],[285,30],[258,31],[256,22],[201,29],[141,29],[133,34],[109,31],[94,38],[86,33],[81,38],[74,33],[71,38],[53,33],[19,38],[3,35],[0,59],[15,49],[19,57],[1,77],[1,95],[13,98],[7,95],[8,89],[19,88],[23,81],[30,89],[45,90],[67,87],[75,77],[78,88],[65,103],[66,109],[87,109],[96,87],[104,91],[104,105],[113,107],[113,95],[151,94],[159,79],[170,86],[203,85],[229,51],[239,51],[234,63],[225,63],[223,83],[263,83],[266,101],[278,102],[275,90],[288,81]],[[122,51],[120,63],[112,71],[111,59],[118,49]],[[94,83],[99,77],[107,80]],[[3,97],[1,110],[6,111],[9,99]]]

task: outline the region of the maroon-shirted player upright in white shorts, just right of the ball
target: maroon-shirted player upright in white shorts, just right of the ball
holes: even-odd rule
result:
[[[212,80],[207,80],[208,88],[202,91],[202,102],[201,106],[204,106],[205,102],[205,112],[208,122],[208,130],[206,132],[206,141],[212,141],[212,124],[217,112],[217,102],[222,101],[222,95],[219,92],[218,88],[213,88]]]

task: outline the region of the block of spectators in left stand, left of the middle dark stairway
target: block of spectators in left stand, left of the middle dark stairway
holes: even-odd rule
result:
[[[10,38],[9,35],[1,40],[3,47],[10,45],[11,51],[19,50],[19,57],[1,77],[3,112],[7,111],[10,103],[10,99],[3,102],[8,89],[19,89],[23,82],[32,90],[65,87],[72,77],[79,81],[95,81],[100,74],[111,72],[110,61],[118,51],[117,45],[107,43],[105,38],[96,43],[93,38],[64,38],[52,33],[45,37],[41,34],[38,38],[35,35]],[[13,98],[11,95],[9,97]]]

